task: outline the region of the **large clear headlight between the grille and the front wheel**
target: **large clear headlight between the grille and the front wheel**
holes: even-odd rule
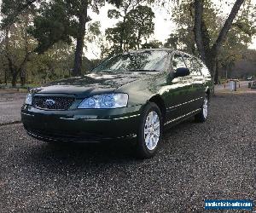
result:
[[[113,109],[126,107],[128,102],[128,95],[119,94],[104,94],[94,95],[89,98],[85,98],[79,104],[79,109]]]

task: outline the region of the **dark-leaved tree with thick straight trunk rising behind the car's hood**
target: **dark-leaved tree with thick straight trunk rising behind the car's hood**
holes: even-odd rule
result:
[[[98,12],[103,0],[53,0],[41,4],[40,13],[30,32],[38,40],[38,53],[44,53],[54,43],[71,44],[76,40],[73,75],[81,74],[85,25],[90,21],[87,10]]]

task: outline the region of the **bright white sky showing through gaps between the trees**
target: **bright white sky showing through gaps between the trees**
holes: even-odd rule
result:
[[[222,4],[222,0],[213,0],[213,3],[216,3],[218,7],[220,7],[223,11],[223,14],[226,16],[230,13],[230,7]],[[234,2],[234,0],[230,0],[230,2]],[[256,0],[252,1],[256,4]],[[109,19],[108,18],[108,9],[114,9],[114,7],[110,4],[106,4],[104,7],[100,9],[100,14],[94,14],[89,11],[90,18],[92,21],[100,21],[101,22],[101,30],[105,32],[108,27],[113,27],[118,22],[118,20]],[[170,19],[171,14],[168,13],[167,9],[160,9],[159,7],[152,7],[154,11],[154,35],[152,38],[159,40],[162,43],[166,42],[167,37],[175,31],[175,24]],[[96,45],[89,44],[87,45],[88,49],[84,50],[84,55],[89,59],[95,59],[96,55],[100,54],[100,49],[96,48]],[[249,45],[250,49],[256,49],[256,37],[253,37],[253,42]]]

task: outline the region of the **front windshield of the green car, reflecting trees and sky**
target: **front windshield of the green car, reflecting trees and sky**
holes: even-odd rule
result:
[[[166,51],[125,53],[103,61],[92,72],[160,72],[164,70]]]

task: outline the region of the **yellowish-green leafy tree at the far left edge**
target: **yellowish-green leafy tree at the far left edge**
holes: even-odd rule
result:
[[[4,55],[8,60],[8,70],[12,76],[12,85],[15,86],[20,75],[20,84],[26,83],[26,64],[33,53],[34,41],[26,32],[32,23],[35,1],[3,0],[1,12],[3,20],[1,28],[5,32]],[[31,6],[31,7],[30,7]]]

